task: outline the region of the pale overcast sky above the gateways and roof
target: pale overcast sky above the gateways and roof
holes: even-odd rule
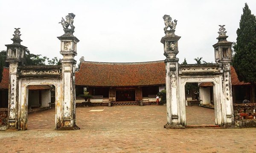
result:
[[[164,60],[163,15],[177,20],[179,63],[203,57],[214,62],[218,25],[226,25],[228,41],[247,3],[256,14],[256,0],[0,0],[0,50],[20,28],[21,42],[33,54],[62,58],[58,36],[64,34],[61,17],[76,14],[73,25],[76,60],[95,62],[145,62]]]

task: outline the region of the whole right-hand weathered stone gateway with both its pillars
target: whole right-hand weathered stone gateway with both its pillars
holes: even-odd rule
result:
[[[162,37],[166,56],[166,105],[167,123],[165,128],[183,128],[186,126],[185,85],[187,82],[212,82],[214,84],[215,124],[230,126],[234,123],[233,100],[230,77],[232,42],[227,41],[224,26],[218,32],[215,49],[216,64],[178,65],[178,40],[175,35],[177,20],[172,21],[164,15],[166,36]],[[170,28],[170,30],[167,30]]]

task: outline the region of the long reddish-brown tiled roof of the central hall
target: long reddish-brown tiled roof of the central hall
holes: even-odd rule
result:
[[[82,62],[76,72],[76,85],[87,86],[143,86],[164,85],[164,61],[106,63]]]

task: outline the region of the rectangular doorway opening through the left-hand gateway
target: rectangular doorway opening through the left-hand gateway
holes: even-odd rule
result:
[[[28,106],[28,130],[54,129],[56,94],[55,86],[28,85],[27,91],[28,96],[26,96],[26,102]]]

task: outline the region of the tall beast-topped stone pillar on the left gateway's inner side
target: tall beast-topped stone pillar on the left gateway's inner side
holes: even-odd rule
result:
[[[76,130],[76,91],[75,91],[75,65],[76,43],[79,40],[73,36],[75,26],[73,19],[75,14],[69,13],[66,21],[62,18],[61,25],[64,28],[64,34],[58,37],[61,40],[61,51],[63,55],[62,64],[62,119],[57,123],[57,129]],[[68,28],[68,27],[71,27]]]

